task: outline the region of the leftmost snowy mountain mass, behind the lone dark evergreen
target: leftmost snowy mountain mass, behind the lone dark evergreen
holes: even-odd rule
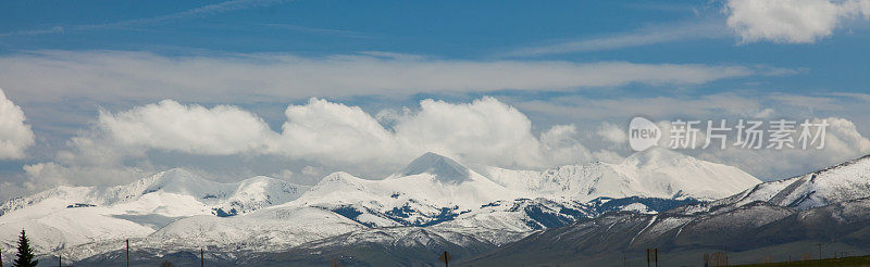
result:
[[[85,243],[144,238],[178,218],[250,213],[298,198],[306,187],[268,177],[237,183],[171,169],[119,187],[59,187],[0,207],[0,245],[22,229],[39,253]]]

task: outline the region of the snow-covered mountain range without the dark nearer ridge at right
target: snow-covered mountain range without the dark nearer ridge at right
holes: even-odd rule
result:
[[[123,239],[151,255],[208,245],[228,257],[338,245],[343,236],[376,247],[492,249],[608,212],[657,214],[758,183],[734,167],[666,150],[621,164],[477,169],[484,174],[426,153],[381,180],[338,171],[312,187],[268,177],[219,183],[171,169],[126,186],[11,200],[0,207],[0,241],[10,251],[26,228],[38,252],[71,259],[104,257]]]

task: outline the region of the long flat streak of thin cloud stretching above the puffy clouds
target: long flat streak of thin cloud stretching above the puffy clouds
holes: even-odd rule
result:
[[[769,68],[738,65],[462,61],[370,54],[162,56],[146,52],[42,51],[0,56],[4,88],[21,100],[34,102],[87,98],[107,102],[173,99],[249,103],[433,91],[698,85],[770,74]]]

